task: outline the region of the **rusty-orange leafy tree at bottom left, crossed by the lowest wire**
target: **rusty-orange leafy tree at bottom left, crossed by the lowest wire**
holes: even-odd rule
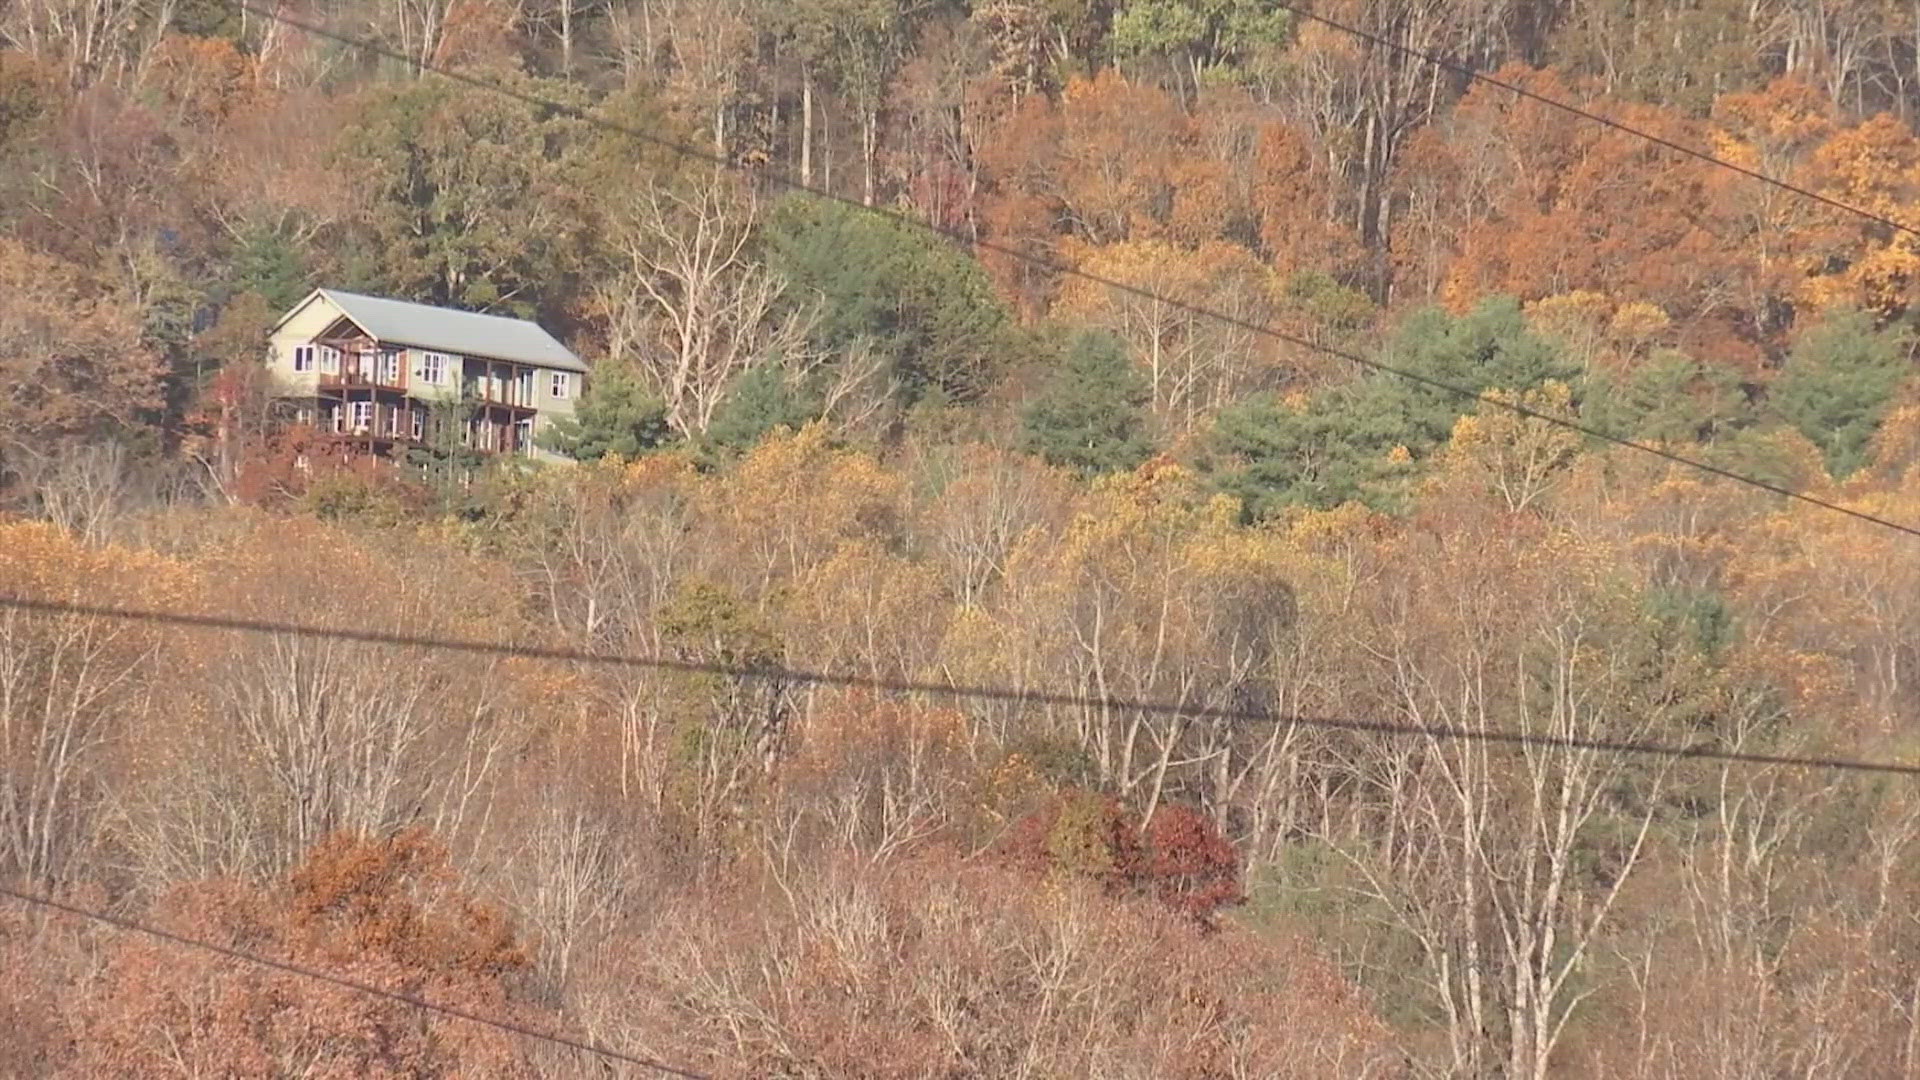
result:
[[[186,884],[156,913],[219,945],[501,1020],[543,1026],[509,992],[528,953],[467,896],[424,832],[323,842],[286,880]],[[106,942],[75,986],[67,1076],[534,1076],[495,1028],[144,938]]]

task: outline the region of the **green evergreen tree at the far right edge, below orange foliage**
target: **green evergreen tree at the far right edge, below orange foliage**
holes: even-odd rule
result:
[[[1772,404],[1826,454],[1836,479],[1866,463],[1866,448],[1907,379],[1907,331],[1876,331],[1862,311],[1836,311],[1793,342]]]

